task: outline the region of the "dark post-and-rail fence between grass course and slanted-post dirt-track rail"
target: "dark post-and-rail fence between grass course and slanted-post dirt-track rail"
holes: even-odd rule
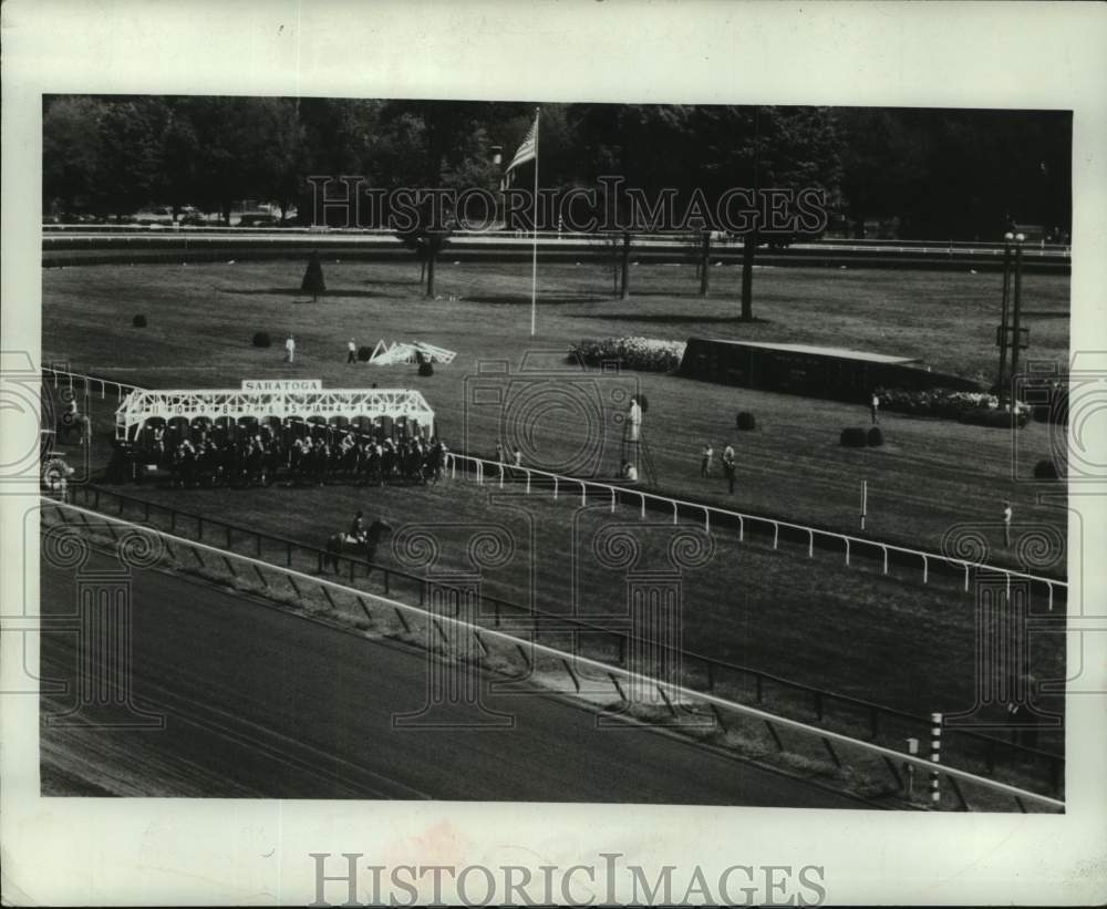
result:
[[[250,557],[282,568],[299,568],[322,575],[327,565],[333,565],[350,585],[371,583],[384,596],[405,596],[425,606],[432,595],[461,593],[448,582],[436,581],[424,575],[370,561],[358,556],[329,552],[323,547],[300,540],[241,527],[228,521],[137,496],[118,493],[96,485],[70,487],[71,499],[99,515],[115,519],[141,520],[141,526],[159,533],[176,535],[182,539],[195,538],[196,543],[219,544],[220,551],[245,549]],[[158,526],[159,525],[159,526]],[[439,596],[438,599],[442,599]],[[659,647],[656,641],[642,641],[629,630],[612,628],[586,619],[549,612],[536,606],[523,606],[482,591],[476,603],[482,627],[509,628],[523,631],[536,640],[540,637],[563,638],[570,634],[580,651],[601,654],[602,659],[623,664],[628,653],[639,644],[649,644],[654,651],[663,650],[671,662],[682,668],[684,684],[696,691],[725,692],[732,699],[744,699],[757,705],[772,705],[807,722],[826,724],[852,735],[867,735],[871,741],[901,742],[921,736],[929,723],[925,716],[876,704],[859,698],[825,689],[805,685],[773,673],[720,660],[692,650]],[[599,659],[599,657],[598,657]],[[983,735],[970,730],[946,730],[945,748],[965,765],[979,767],[987,775],[1017,773],[1051,793],[1063,789],[1064,758],[1061,755],[1031,748],[1015,741]]]

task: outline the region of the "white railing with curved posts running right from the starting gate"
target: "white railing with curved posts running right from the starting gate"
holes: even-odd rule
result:
[[[504,486],[505,483],[508,482],[519,483],[525,486],[527,494],[530,494],[530,492],[536,488],[541,488],[544,490],[551,489],[555,499],[565,495],[571,495],[576,498],[579,495],[581,505],[589,504],[589,494],[591,494],[593,504],[606,504],[612,513],[619,504],[637,504],[639,513],[643,518],[645,517],[646,505],[649,504],[655,509],[661,509],[672,514],[674,525],[680,523],[682,516],[686,518],[691,515],[696,519],[696,521],[703,523],[703,528],[707,533],[711,531],[713,521],[715,526],[721,523],[730,526],[734,526],[736,524],[738,528],[739,543],[745,541],[747,526],[751,529],[763,528],[765,533],[772,534],[773,548],[778,549],[780,545],[780,531],[784,529],[789,531],[793,536],[799,536],[800,538],[806,539],[807,555],[809,558],[815,556],[816,540],[819,541],[820,548],[824,549],[827,548],[826,544],[834,544],[832,548],[842,552],[845,556],[845,565],[847,566],[851,564],[850,559],[855,555],[859,555],[859,550],[869,550],[870,555],[872,555],[872,551],[875,550],[876,554],[878,554],[876,557],[882,565],[882,574],[888,574],[889,557],[894,556],[900,561],[914,562],[922,571],[923,583],[928,583],[930,581],[931,567],[935,565],[953,569],[959,578],[962,579],[961,582],[963,583],[963,589],[966,592],[970,589],[973,571],[986,571],[989,574],[1005,577],[1008,596],[1011,592],[1012,579],[1030,581],[1031,583],[1044,587],[1048,591],[1051,611],[1054,607],[1055,592],[1059,591],[1066,597],[1068,592],[1068,582],[1055,578],[1030,575],[1024,571],[1001,568],[999,566],[986,565],[984,562],[968,561],[965,559],[959,559],[941,552],[928,552],[923,549],[911,549],[910,547],[898,546],[892,543],[883,543],[881,540],[869,539],[867,537],[855,537],[836,530],[826,530],[803,524],[795,524],[793,521],[770,518],[764,515],[751,515],[742,512],[732,512],[726,508],[706,505],[702,502],[689,502],[686,499],[672,498],[658,493],[648,493],[643,489],[637,489],[631,485],[617,485],[593,479],[561,476],[537,467],[516,467],[497,461],[474,457],[473,455],[454,453],[446,455],[446,468],[449,471],[452,478],[457,477],[458,463],[468,465],[472,468],[470,472],[476,477],[476,482],[478,484],[492,482],[498,484],[499,486]],[[540,479],[542,483],[536,483],[536,479]]]

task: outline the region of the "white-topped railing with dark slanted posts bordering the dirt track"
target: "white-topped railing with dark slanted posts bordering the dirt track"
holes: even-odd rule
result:
[[[764,725],[764,727],[768,731],[770,741],[775,743],[775,750],[777,752],[797,751],[795,744],[789,747],[786,746],[783,741],[782,733],[788,732],[789,735],[795,735],[801,738],[805,746],[811,746],[814,743],[817,743],[824,760],[829,756],[832,764],[839,769],[845,766],[845,763],[848,763],[850,768],[857,769],[863,774],[886,774],[894,781],[894,787],[890,787],[884,794],[890,794],[893,791],[902,792],[903,779],[899,768],[910,767],[913,771],[922,772],[928,775],[937,774],[942,779],[946,781],[949,788],[951,788],[956,795],[962,810],[972,810],[972,804],[965,792],[965,786],[981,787],[993,797],[1002,796],[1004,798],[1011,798],[1022,812],[1027,810],[1027,805],[1034,805],[1037,808],[1047,812],[1063,812],[1065,809],[1065,803],[1061,799],[1033,793],[1007,783],[989,779],[974,773],[952,767],[948,764],[934,764],[925,757],[902,754],[898,751],[875,744],[872,742],[865,742],[838,732],[811,726],[797,720],[778,716],[747,704],[734,702],[717,694],[695,691],[682,685],[654,679],[640,672],[633,672],[621,667],[612,667],[608,663],[554,648],[548,644],[542,644],[535,640],[528,640],[516,634],[509,634],[505,631],[488,629],[484,626],[467,622],[452,616],[436,614],[426,609],[379,595],[365,593],[362,590],[346,587],[338,583],[337,581],[312,577],[289,567],[275,566],[257,558],[219,549],[196,540],[185,539],[179,536],[166,534],[164,531],[137,525],[121,518],[110,517],[71,504],[44,499],[43,517],[45,517],[48,509],[52,512],[55,519],[62,521],[64,525],[75,525],[77,528],[85,531],[96,531],[96,528],[90,518],[105,521],[108,528],[108,536],[118,545],[121,552],[125,548],[124,539],[116,534],[113,525],[124,527],[131,534],[138,531],[139,534],[155,535],[161,540],[162,545],[165,547],[165,552],[170,558],[178,558],[174,547],[178,547],[178,549],[184,548],[194,554],[201,567],[207,568],[208,562],[206,562],[203,557],[198,555],[199,552],[205,552],[210,559],[213,559],[213,561],[221,562],[223,566],[225,566],[226,569],[235,577],[239,577],[238,571],[235,569],[235,564],[245,566],[245,574],[252,574],[252,576],[256,577],[270,593],[273,591],[270,587],[267,572],[276,571],[288,581],[292,595],[298,600],[302,599],[304,587],[321,589],[325,601],[335,611],[340,608],[340,605],[335,599],[335,595],[344,598],[346,602],[352,600],[355,605],[355,607],[351,605],[350,608],[352,611],[355,613],[359,611],[363,613],[365,620],[371,626],[381,621],[382,611],[390,612],[396,617],[400,627],[402,627],[404,633],[407,636],[413,636],[423,631],[426,634],[428,647],[448,649],[451,641],[458,641],[462,639],[474,640],[478,647],[469,652],[483,654],[484,657],[492,655],[494,652],[493,648],[495,647],[497,648],[495,652],[498,655],[510,654],[513,660],[516,662],[521,657],[521,662],[525,669],[523,676],[518,679],[518,681],[530,679],[534,674],[538,659],[545,658],[549,665],[558,668],[559,670],[563,669],[572,681],[575,691],[578,694],[584,693],[584,682],[589,683],[589,691],[587,693],[590,695],[599,693],[592,688],[593,684],[603,684],[607,686],[609,698],[613,698],[623,705],[630,706],[633,701],[628,698],[628,692],[651,691],[656,695],[655,698],[651,694],[649,701],[640,698],[637,703],[652,703],[655,705],[663,704],[675,719],[680,719],[682,711],[689,711],[693,707],[706,710],[710,716],[714,717],[714,722],[717,722],[720,727],[723,730],[727,729],[726,722],[723,720],[724,715],[730,717],[739,717],[738,722],[746,723],[746,727],[748,727],[749,724],[756,724],[758,729]],[[131,540],[132,546],[134,543],[134,540]],[[149,567],[148,564],[147,567]],[[422,628],[420,627],[421,624]],[[444,631],[444,627],[449,627],[452,629],[452,633],[447,634]],[[432,631],[432,629],[434,630]],[[586,673],[591,674],[588,675]],[[732,720],[731,722],[734,721]]]

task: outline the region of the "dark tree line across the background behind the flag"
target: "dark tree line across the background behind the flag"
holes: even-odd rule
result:
[[[310,223],[308,178],[320,175],[495,192],[535,106],[52,95],[44,210],[111,218],[192,205],[229,221],[237,202],[258,199]],[[1070,224],[1067,112],[542,104],[539,156],[541,185],[561,192],[601,176],[708,202],[733,187],[817,187],[855,236],[873,220],[903,238],[969,240],[997,239],[1011,224],[1067,235]],[[520,182],[529,174],[520,168]]]

